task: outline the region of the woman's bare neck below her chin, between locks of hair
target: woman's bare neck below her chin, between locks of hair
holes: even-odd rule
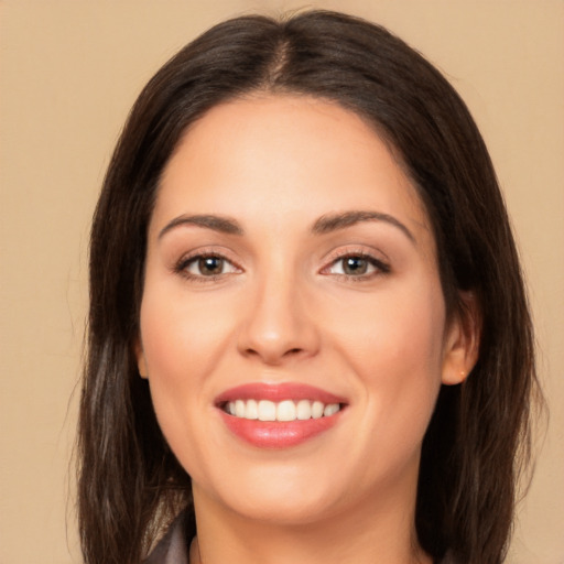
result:
[[[280,524],[228,513],[206,500],[191,564],[431,564],[416,542],[414,507],[379,498],[369,516],[347,510],[315,523]],[[366,507],[366,503],[365,503]]]

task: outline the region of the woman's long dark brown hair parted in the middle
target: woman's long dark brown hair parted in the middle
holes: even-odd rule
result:
[[[424,438],[421,545],[462,564],[498,564],[528,459],[533,335],[518,256],[488,152],[465,104],[421,55],[360,19],[311,11],[246,17],[183,48],[137,100],[94,217],[88,357],[79,416],[78,510],[87,564],[138,564],[189,477],[163,438],[133,343],[147,229],[183,132],[212,107],[256,91],[334,101],[371,123],[416,186],[433,225],[448,311],[481,312],[476,367],[443,387]]]

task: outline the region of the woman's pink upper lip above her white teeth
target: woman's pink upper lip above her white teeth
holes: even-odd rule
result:
[[[322,403],[347,403],[343,397],[330,393],[326,390],[300,382],[251,382],[237,386],[221,392],[216,398],[216,405],[225,404],[236,400],[270,400],[280,402],[283,400],[312,400]]]

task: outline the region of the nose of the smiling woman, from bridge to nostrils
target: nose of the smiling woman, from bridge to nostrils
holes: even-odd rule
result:
[[[240,354],[271,366],[292,358],[307,358],[319,348],[318,319],[306,307],[295,280],[272,276],[246,304],[238,335]]]

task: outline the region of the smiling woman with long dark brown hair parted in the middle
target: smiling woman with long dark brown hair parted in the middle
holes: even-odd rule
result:
[[[386,30],[241,18],[159,70],[88,328],[88,564],[501,562],[535,386],[519,262],[464,102]]]

